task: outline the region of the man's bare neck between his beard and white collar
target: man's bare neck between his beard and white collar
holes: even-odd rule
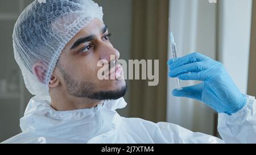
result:
[[[92,108],[102,104],[103,100],[74,97],[63,91],[49,92],[51,96],[51,106],[57,111],[69,111],[84,108]]]

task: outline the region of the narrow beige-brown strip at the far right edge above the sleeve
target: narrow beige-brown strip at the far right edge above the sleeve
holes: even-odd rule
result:
[[[248,94],[256,96],[256,1],[251,15],[251,44],[248,76]]]

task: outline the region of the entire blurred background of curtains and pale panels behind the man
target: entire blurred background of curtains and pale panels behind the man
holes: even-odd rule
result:
[[[126,81],[128,104],[118,110],[122,116],[176,123],[217,136],[216,112],[203,103],[171,95],[176,83],[167,78],[170,31],[174,32],[179,56],[197,51],[223,62],[242,93],[256,95],[256,6],[252,0],[95,1],[104,9],[104,21],[113,34],[112,43],[121,53],[121,59],[159,60],[158,86],[147,86],[147,80]],[[19,118],[32,97],[24,86],[12,46],[14,23],[30,2],[0,1],[0,141],[20,132]],[[168,16],[171,30],[168,30]],[[182,85],[195,83],[186,81]]]

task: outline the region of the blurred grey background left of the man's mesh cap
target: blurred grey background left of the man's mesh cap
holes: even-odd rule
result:
[[[30,93],[26,90],[13,54],[13,27],[20,12],[31,1],[0,1],[0,141],[20,132],[19,118]]]

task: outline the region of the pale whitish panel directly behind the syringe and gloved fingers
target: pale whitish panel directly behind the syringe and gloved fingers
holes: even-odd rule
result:
[[[171,0],[171,31],[176,39],[178,56],[200,52],[216,58],[216,11],[216,5],[208,1]],[[183,86],[195,83],[181,81]],[[175,88],[175,79],[169,78],[167,121],[192,131],[213,134],[214,112],[196,100],[173,97],[171,92]]]

